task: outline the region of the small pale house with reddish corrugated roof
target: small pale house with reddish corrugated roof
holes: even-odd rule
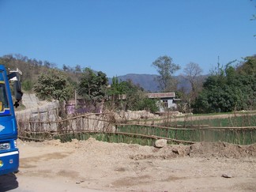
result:
[[[165,109],[176,109],[180,99],[175,98],[175,92],[152,92],[147,93],[150,99],[160,100],[160,112]]]

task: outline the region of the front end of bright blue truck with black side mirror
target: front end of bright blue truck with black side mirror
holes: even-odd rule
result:
[[[10,83],[11,79],[14,81]],[[13,89],[10,88],[10,84],[13,85]],[[17,172],[19,168],[14,107],[19,105],[21,97],[20,74],[7,74],[5,66],[0,65],[0,175]]]

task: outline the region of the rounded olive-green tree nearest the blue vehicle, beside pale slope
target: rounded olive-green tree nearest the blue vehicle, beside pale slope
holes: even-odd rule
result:
[[[34,85],[34,91],[36,95],[42,100],[70,100],[73,94],[73,88],[71,87],[65,73],[59,70],[47,70],[46,73],[42,73]]]

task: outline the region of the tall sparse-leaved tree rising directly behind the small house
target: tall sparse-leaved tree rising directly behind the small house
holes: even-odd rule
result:
[[[180,69],[179,65],[172,62],[172,58],[166,55],[160,56],[155,62],[152,62],[152,66],[156,68],[157,81],[163,92],[173,92],[176,89],[177,82],[173,78],[173,74]]]

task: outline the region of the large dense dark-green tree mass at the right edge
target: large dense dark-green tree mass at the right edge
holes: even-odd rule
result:
[[[195,100],[196,113],[248,110],[256,106],[256,63],[247,61],[235,68],[231,62],[217,67],[209,76]]]

